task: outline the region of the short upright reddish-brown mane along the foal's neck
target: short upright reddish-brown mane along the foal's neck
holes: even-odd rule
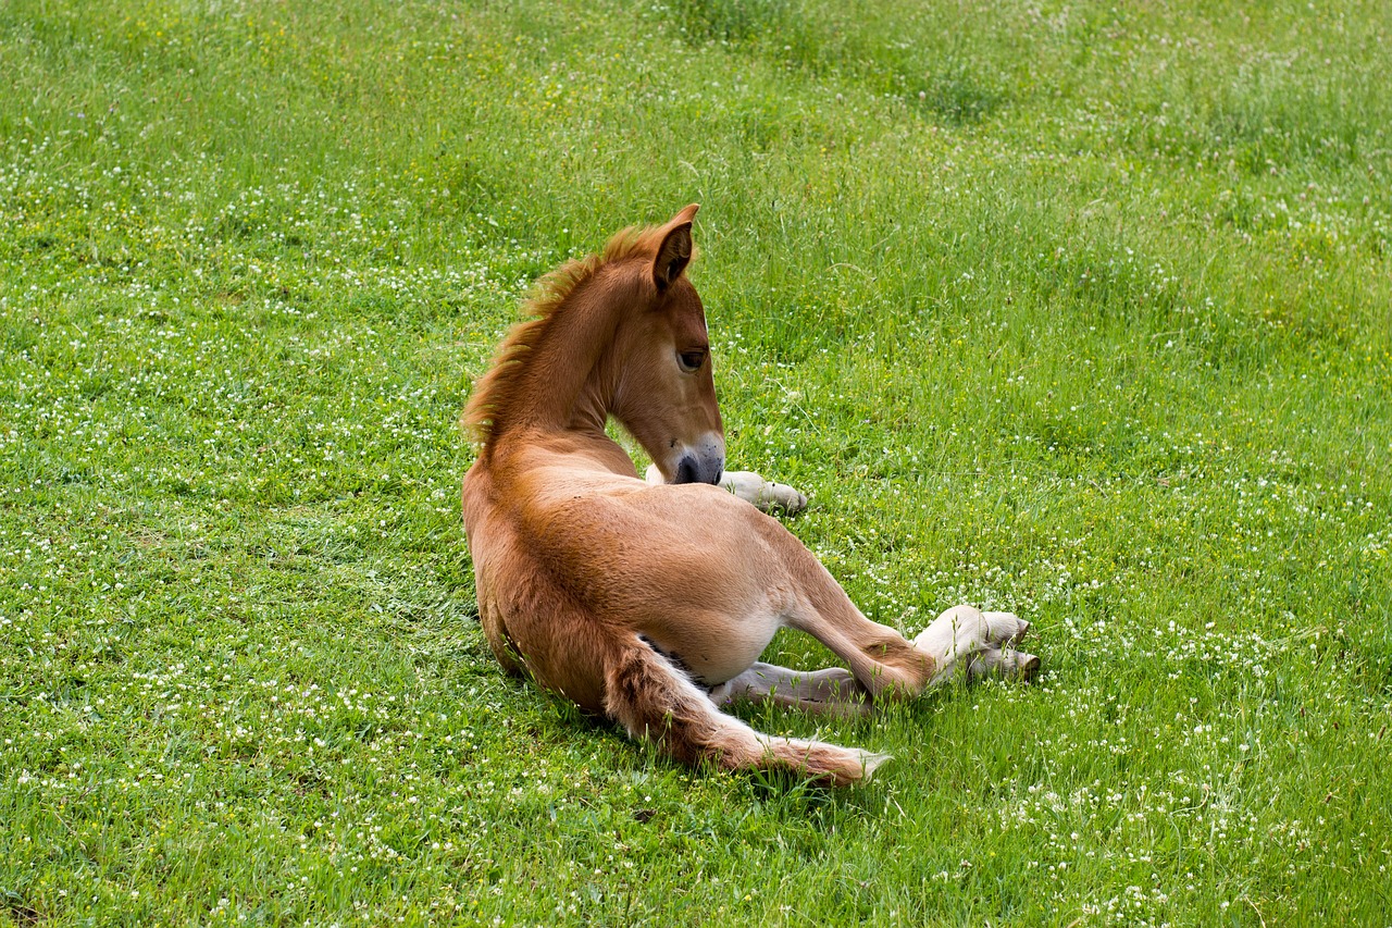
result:
[[[461,425],[480,449],[487,449],[503,424],[522,383],[528,354],[546,339],[547,329],[571,295],[611,262],[656,254],[661,231],[657,226],[629,226],[610,238],[601,252],[568,261],[536,281],[522,304],[522,320],[498,346],[493,364],[473,385],[473,394],[464,410]]]

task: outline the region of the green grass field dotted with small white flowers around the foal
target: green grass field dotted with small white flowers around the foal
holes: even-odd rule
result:
[[[1388,924],[1392,6],[0,3],[0,924]],[[529,283],[700,202],[731,463],[1037,628],[827,791],[505,679]],[[818,666],[814,642],[773,655]]]

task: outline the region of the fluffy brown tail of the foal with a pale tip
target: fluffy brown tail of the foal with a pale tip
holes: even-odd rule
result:
[[[727,771],[782,769],[835,786],[869,780],[887,754],[823,741],[761,734],[715,708],[710,697],[671,660],[638,635],[610,655],[604,669],[604,711],[643,741],[683,764]]]

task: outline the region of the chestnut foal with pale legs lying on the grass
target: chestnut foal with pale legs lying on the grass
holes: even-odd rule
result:
[[[1030,626],[956,606],[909,641],[862,614],[761,511],[802,495],[725,474],[706,312],[685,273],[696,210],[629,227],[543,277],[475,385],[462,507],[479,619],[504,669],[678,762],[864,782],[887,755],[771,737],[722,708],[855,716],[955,676],[1030,677],[1038,658],[1015,648]],[[654,481],[606,433],[611,417]],[[760,662],[782,627],[846,667]]]

